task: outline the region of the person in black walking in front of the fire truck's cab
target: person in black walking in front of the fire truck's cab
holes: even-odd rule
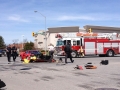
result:
[[[73,63],[74,60],[72,60],[72,55],[71,55],[72,49],[69,42],[67,42],[67,45],[65,45],[64,52],[65,52],[65,63],[67,64],[67,58],[70,58],[71,62]]]

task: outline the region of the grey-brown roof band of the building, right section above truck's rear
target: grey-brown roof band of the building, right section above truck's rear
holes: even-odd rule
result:
[[[120,27],[107,27],[107,26],[93,26],[93,25],[86,25],[84,26],[86,31],[88,31],[90,28],[92,29],[92,32],[100,32],[100,33],[120,33]]]

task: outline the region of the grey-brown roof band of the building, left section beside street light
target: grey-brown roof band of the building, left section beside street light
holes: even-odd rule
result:
[[[79,26],[48,28],[49,33],[79,32]]]

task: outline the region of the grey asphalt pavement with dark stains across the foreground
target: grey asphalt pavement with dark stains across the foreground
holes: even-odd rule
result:
[[[100,65],[104,59],[109,60],[108,65]],[[23,64],[18,57],[15,63],[8,64],[6,57],[0,57],[0,79],[7,85],[4,90],[120,90],[120,55],[88,56],[74,61],[67,65]],[[88,62],[97,69],[85,69]],[[76,65],[83,70],[75,70]]]

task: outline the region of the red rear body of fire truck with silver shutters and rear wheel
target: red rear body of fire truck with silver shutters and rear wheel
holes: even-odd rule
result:
[[[113,57],[119,53],[119,43],[114,42],[85,42],[85,55],[93,54],[99,56]]]

